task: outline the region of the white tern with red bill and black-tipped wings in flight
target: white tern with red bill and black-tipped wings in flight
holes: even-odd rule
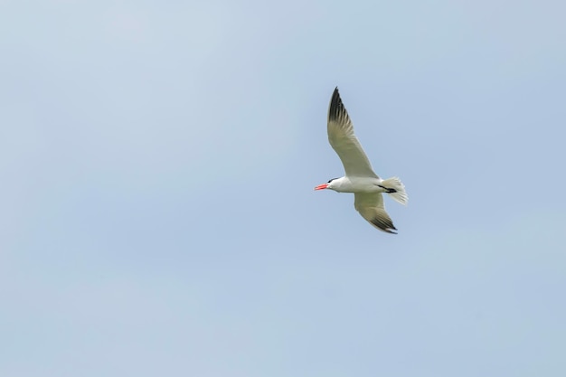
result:
[[[354,193],[354,208],[365,220],[380,231],[397,234],[393,221],[385,212],[382,193],[388,193],[395,201],[407,204],[405,186],[398,177],[382,179],[373,173],[370,160],[354,135],[354,125],[340,99],[338,88],[330,100],[327,129],[328,141],[342,160],[345,175],[319,184],[315,190]]]

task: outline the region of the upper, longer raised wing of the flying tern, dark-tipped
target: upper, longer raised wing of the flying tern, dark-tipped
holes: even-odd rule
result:
[[[335,89],[328,108],[328,141],[342,160],[347,176],[378,177],[373,173],[370,160],[354,135],[354,125],[340,99],[338,88]]]

